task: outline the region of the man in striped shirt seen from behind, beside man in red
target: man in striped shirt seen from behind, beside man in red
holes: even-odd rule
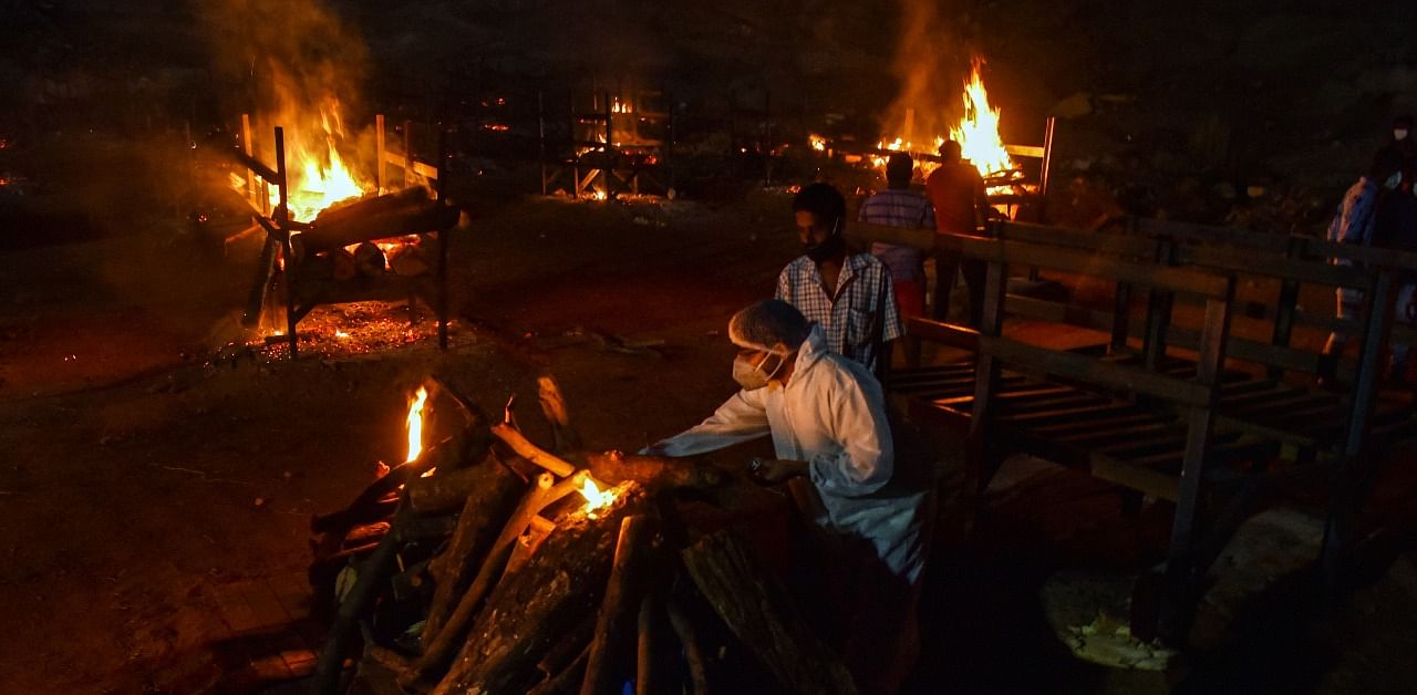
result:
[[[857,219],[873,225],[934,229],[935,208],[930,198],[910,188],[914,176],[915,160],[904,151],[893,153],[886,161],[886,190],[866,198]],[[925,316],[925,252],[876,242],[871,243],[871,255],[890,270],[891,292],[901,320]],[[905,364],[918,365],[920,341],[907,335],[901,347]]]

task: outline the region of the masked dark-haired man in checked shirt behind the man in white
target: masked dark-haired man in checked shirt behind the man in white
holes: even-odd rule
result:
[[[836,188],[803,187],[792,211],[805,253],[778,275],[777,299],[820,324],[829,350],[883,378],[890,344],[903,333],[890,272],[876,256],[847,249],[846,198]]]

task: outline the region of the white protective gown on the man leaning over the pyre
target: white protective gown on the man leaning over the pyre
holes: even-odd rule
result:
[[[830,352],[819,326],[802,343],[786,386],[740,391],[703,423],[653,449],[693,456],[769,433],[778,459],[808,463],[826,508],[818,525],[864,538],[908,582],[920,576],[925,491],[891,484],[896,452],[880,382]]]

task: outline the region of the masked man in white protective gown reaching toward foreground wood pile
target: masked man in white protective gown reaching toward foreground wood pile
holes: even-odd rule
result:
[[[879,600],[894,606],[898,621],[910,623],[897,631],[910,631],[911,617],[900,613],[913,613],[924,566],[928,471],[915,470],[924,466],[918,460],[903,460],[897,470],[897,443],[880,382],[860,364],[828,351],[820,327],[782,300],[738,311],[728,323],[728,337],[743,348],[733,369],[743,389],[703,423],[646,453],[693,456],[771,435],[777,460],[754,461],[751,473],[764,483],[809,477],[822,502],[813,521],[874,548],[893,575],[893,589],[886,590],[890,596]],[[884,645],[877,641],[874,647]],[[913,661],[913,654],[873,657],[881,662],[904,658],[907,667]],[[880,682],[876,675],[866,681],[871,691],[898,687],[869,685]]]

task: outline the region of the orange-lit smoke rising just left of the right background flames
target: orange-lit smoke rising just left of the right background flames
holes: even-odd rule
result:
[[[961,116],[959,85],[969,51],[939,0],[900,0],[900,44],[891,72],[900,93],[884,112],[884,133],[914,143],[947,134]]]

